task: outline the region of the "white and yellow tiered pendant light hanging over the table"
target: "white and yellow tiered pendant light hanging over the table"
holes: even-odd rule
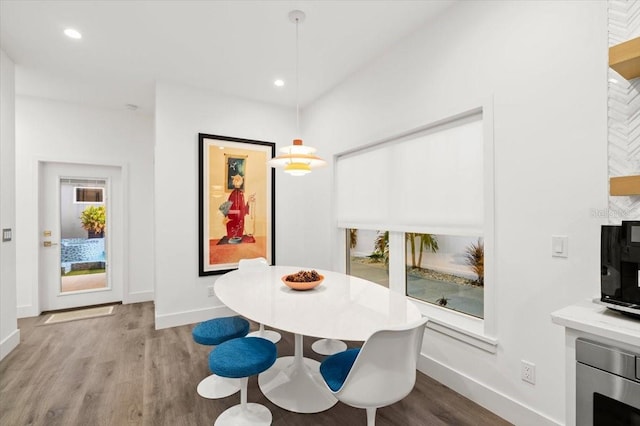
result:
[[[289,12],[289,20],[296,24],[296,128],[300,134],[300,101],[298,98],[298,88],[300,85],[300,77],[298,71],[298,25],[305,18],[304,12],[293,10]],[[293,145],[280,148],[280,155],[269,160],[271,167],[281,167],[285,173],[292,176],[304,176],[311,173],[311,169],[321,167],[327,164],[322,158],[315,155],[316,149],[302,144],[302,139],[293,140]]]

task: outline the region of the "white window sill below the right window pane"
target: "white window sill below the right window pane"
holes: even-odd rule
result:
[[[433,306],[430,303],[409,297],[422,315],[429,318],[427,328],[460,342],[474,346],[483,351],[495,354],[498,340],[484,333],[484,320]]]

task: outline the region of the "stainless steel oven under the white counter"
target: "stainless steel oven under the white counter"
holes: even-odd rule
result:
[[[640,354],[576,340],[576,425],[640,426]]]

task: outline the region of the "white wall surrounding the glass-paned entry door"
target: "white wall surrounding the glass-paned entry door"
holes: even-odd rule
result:
[[[123,302],[153,300],[153,118],[46,99],[16,98],[18,316],[40,313],[38,161],[122,166],[129,186],[125,214],[128,275]]]

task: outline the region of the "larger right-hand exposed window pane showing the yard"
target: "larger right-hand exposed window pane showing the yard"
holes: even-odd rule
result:
[[[406,233],[407,295],[484,318],[481,237]]]

